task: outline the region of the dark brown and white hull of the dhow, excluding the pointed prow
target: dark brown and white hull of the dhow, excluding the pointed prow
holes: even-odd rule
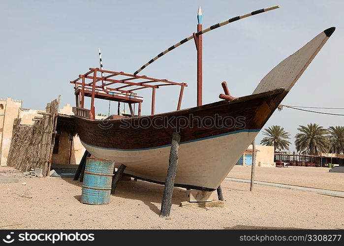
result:
[[[163,183],[173,131],[181,135],[176,185],[216,189],[281,102],[284,89],[166,114],[108,121],[75,117],[85,148],[125,164],[125,175]]]

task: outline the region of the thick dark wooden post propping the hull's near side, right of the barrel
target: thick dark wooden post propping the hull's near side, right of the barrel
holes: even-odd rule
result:
[[[177,132],[173,132],[172,146],[170,151],[170,157],[168,160],[168,169],[165,181],[164,193],[161,202],[160,218],[168,218],[170,216],[172,207],[172,194],[174,179],[177,174],[178,165],[178,153],[179,153],[180,135]]]

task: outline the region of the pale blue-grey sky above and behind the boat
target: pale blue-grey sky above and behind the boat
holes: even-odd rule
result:
[[[62,95],[74,105],[70,80],[98,67],[133,73],[158,53],[196,29],[202,7],[204,28],[256,9],[281,8],[203,35],[203,102],[219,100],[227,81],[234,96],[250,94],[261,78],[320,31],[336,26],[283,104],[344,107],[344,1],[341,0],[31,0],[1,1],[0,97],[22,99],[24,108],[42,109]],[[188,83],[182,108],[196,102],[196,51],[189,41],[140,74]],[[179,88],[161,88],[156,112],[175,110]],[[149,114],[151,91],[143,114]],[[107,114],[107,104],[98,103]],[[116,103],[117,105],[117,103]],[[113,105],[112,113],[116,112]],[[331,111],[344,113],[343,110]],[[344,117],[276,111],[265,127],[282,125],[292,136],[300,124],[343,125]],[[261,134],[257,138],[259,142]],[[292,142],[294,140],[292,139]],[[293,149],[293,147],[292,147]]]

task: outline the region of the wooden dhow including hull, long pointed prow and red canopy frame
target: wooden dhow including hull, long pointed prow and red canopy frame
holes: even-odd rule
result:
[[[173,184],[215,190],[333,31],[335,28],[322,31],[283,60],[251,95],[234,98],[222,83],[225,93],[219,97],[224,100],[188,109],[181,109],[185,83],[139,76],[139,70],[128,74],[90,68],[71,81],[77,104],[74,121],[80,140],[94,157],[113,160],[117,168],[124,165],[125,175],[164,184],[172,136],[178,133],[178,171]],[[155,114],[155,93],[161,86],[181,87],[177,111]],[[141,89],[152,90],[149,116],[141,115],[143,98],[134,93]],[[85,96],[92,98],[90,109],[84,108]],[[95,98],[128,103],[130,114],[95,120]]]

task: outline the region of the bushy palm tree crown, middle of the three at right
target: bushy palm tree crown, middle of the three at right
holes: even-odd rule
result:
[[[327,153],[330,141],[327,137],[328,130],[316,123],[299,125],[300,132],[295,135],[297,152],[315,155],[318,152]]]

